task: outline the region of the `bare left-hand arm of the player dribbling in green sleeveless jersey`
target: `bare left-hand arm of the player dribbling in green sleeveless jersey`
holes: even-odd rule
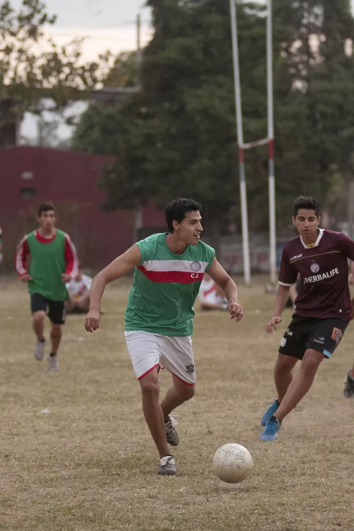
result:
[[[97,330],[100,326],[101,298],[106,285],[119,277],[123,277],[136,265],[139,265],[140,261],[140,249],[137,245],[133,245],[94,277],[90,289],[90,310],[85,319],[85,329],[88,332]]]

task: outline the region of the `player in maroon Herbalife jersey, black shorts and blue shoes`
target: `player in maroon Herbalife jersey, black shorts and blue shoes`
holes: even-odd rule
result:
[[[331,357],[352,319],[348,259],[354,260],[354,242],[342,233],[319,228],[320,220],[317,201],[302,195],[295,200],[292,223],[299,236],[283,249],[279,289],[273,317],[265,327],[267,333],[273,333],[281,323],[290,286],[298,273],[301,286],[292,321],[280,341],[274,368],[278,398],[262,417],[263,441],[277,439],[283,418],[306,395],[318,366]],[[292,378],[299,359],[300,370]]]

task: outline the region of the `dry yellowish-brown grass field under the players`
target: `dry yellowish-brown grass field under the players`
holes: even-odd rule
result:
[[[2,279],[0,293],[0,529],[354,530],[354,402],[342,394],[352,324],[278,441],[267,443],[260,417],[274,398],[281,338],[264,332],[273,296],[261,284],[240,287],[240,324],[197,311],[196,396],[176,410],[178,475],[160,477],[123,337],[127,281],[107,289],[98,332],[85,332],[80,315],[67,319],[57,373],[32,357],[25,287]],[[289,319],[287,311],[281,330]],[[162,391],[169,383],[162,371]],[[254,461],[237,489],[211,472],[227,442]]]

